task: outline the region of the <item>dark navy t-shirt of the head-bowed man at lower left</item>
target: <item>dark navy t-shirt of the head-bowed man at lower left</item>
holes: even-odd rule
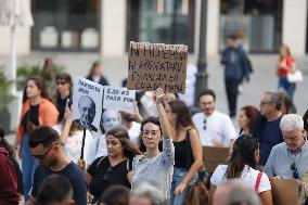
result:
[[[35,176],[34,176],[34,185],[31,195],[34,197],[37,196],[38,189],[42,181],[50,175],[61,175],[66,177],[73,187],[74,196],[73,198],[76,202],[76,205],[85,205],[87,204],[87,181],[84,175],[84,171],[75,164],[69,163],[66,167],[59,171],[53,171],[49,167],[43,167],[39,165],[36,168]],[[51,193],[52,194],[52,193]]]

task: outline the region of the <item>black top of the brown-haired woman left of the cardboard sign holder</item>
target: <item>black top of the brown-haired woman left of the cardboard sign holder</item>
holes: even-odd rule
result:
[[[108,157],[102,156],[90,165],[87,172],[92,177],[89,184],[89,192],[94,196],[92,203],[95,203],[111,185],[125,185],[130,189],[130,183],[127,179],[127,161],[113,167]]]

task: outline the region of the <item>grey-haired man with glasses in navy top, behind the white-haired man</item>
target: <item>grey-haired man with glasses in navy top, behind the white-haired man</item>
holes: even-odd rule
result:
[[[260,115],[253,126],[253,136],[259,141],[261,166],[266,165],[271,149],[283,142],[279,127],[282,117],[281,104],[282,100],[278,92],[265,92],[260,100]]]

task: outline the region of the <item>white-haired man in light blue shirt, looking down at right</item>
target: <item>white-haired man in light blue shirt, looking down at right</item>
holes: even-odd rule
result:
[[[304,120],[299,115],[284,115],[280,123],[284,142],[272,148],[265,172],[269,177],[296,179],[301,187],[308,168],[308,143],[304,138]]]

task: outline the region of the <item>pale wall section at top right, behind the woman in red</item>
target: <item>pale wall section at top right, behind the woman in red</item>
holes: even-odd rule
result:
[[[304,55],[306,50],[307,0],[284,0],[282,21],[282,42],[290,46],[295,55]]]

